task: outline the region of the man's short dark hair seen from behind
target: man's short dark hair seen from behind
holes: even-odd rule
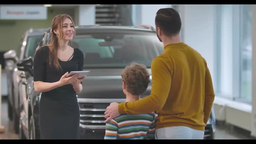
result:
[[[181,17],[173,8],[160,9],[155,17],[155,24],[166,36],[175,36],[181,30]]]

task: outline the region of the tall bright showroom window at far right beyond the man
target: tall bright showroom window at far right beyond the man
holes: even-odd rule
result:
[[[251,103],[251,5],[217,5],[215,94]]]

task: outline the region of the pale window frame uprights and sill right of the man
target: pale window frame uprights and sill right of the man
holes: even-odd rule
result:
[[[216,49],[215,49],[215,94],[220,97],[227,99],[232,99],[234,101],[240,101],[247,104],[251,104],[250,100],[242,98],[242,66],[243,66],[243,46],[242,46],[242,34],[243,34],[243,6],[244,5],[231,5],[232,6],[232,95],[226,97],[220,92],[220,82],[221,82],[221,14],[222,5],[217,5],[216,7]]]

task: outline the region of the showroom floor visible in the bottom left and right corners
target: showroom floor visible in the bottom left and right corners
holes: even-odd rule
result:
[[[0,139],[19,139],[18,134],[13,131],[13,121],[7,118],[7,101],[2,98],[1,119],[2,125],[5,127],[4,133],[0,133]],[[233,130],[232,130],[233,129]],[[250,132],[242,130],[237,127],[231,128],[230,125],[218,124],[216,125],[215,139],[252,139]]]

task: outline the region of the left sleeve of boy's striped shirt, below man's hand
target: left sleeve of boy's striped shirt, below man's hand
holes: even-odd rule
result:
[[[106,131],[104,139],[117,139],[118,124],[112,119],[106,123]]]

